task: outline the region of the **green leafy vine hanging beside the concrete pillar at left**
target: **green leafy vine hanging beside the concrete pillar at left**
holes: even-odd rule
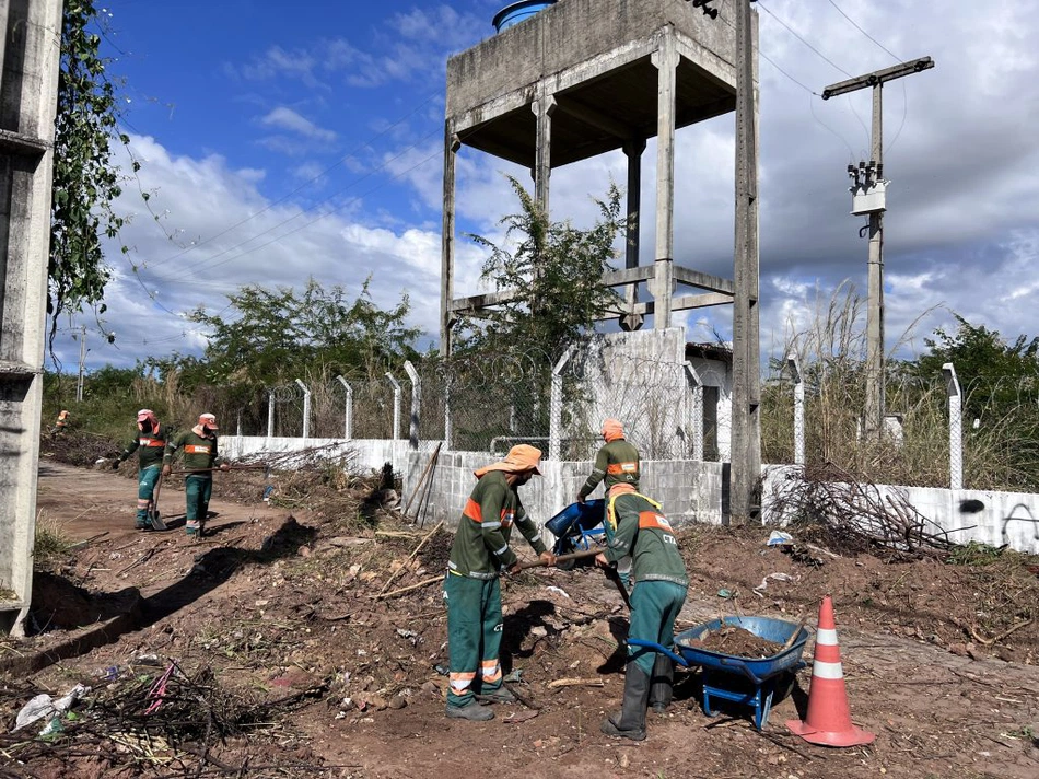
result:
[[[116,237],[124,223],[112,208],[121,193],[110,160],[117,125],[116,89],[106,75],[107,62],[100,56],[101,36],[90,31],[96,19],[93,0],[66,0],[48,267],[51,342],[62,312],[101,302],[110,276],[101,240]],[[119,140],[129,142],[122,135]],[[98,313],[104,310],[102,304]]]

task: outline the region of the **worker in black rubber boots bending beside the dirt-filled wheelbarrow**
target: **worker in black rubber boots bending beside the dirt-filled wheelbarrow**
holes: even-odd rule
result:
[[[628,638],[670,647],[675,619],[689,586],[675,534],[661,504],[631,487],[616,489],[610,504],[617,530],[595,561],[608,567],[626,555],[631,556],[635,586],[631,593]],[[673,679],[669,658],[629,644],[623,702],[619,712],[603,720],[600,730],[633,741],[645,739],[646,705],[663,711],[670,702]]]

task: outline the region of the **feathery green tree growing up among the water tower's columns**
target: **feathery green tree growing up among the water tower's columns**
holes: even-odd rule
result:
[[[603,283],[612,270],[614,246],[626,222],[620,190],[610,185],[605,200],[596,200],[600,218],[589,230],[569,221],[552,222],[526,189],[512,176],[520,212],[501,220],[513,249],[481,235],[470,237],[490,249],[481,277],[499,291],[517,295],[495,309],[464,317],[456,351],[489,350],[497,353],[539,351],[558,357],[561,349],[589,335],[596,318],[616,306],[619,297]]]

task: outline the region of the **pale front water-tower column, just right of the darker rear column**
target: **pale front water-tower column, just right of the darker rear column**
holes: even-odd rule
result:
[[[675,81],[678,51],[675,36],[666,27],[659,48],[653,53],[657,69],[656,91],[656,275],[651,284],[653,327],[672,324],[675,258]]]

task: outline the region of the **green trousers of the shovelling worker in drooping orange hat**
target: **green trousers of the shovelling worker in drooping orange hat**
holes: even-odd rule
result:
[[[502,596],[498,579],[471,579],[448,573],[444,579],[447,604],[447,664],[451,689],[447,706],[467,706],[474,685],[488,693],[502,685],[498,653],[502,640]],[[479,683],[477,677],[479,676]]]

